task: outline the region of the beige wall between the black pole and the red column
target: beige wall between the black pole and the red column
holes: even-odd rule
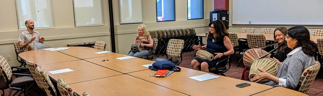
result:
[[[131,43],[137,34],[137,26],[144,24],[148,31],[166,30],[177,28],[195,28],[197,33],[208,31],[209,12],[213,11],[213,0],[204,0],[204,19],[187,20],[187,0],[175,0],[175,18],[172,22],[156,22],[156,1],[142,0],[143,23],[120,24],[119,4],[113,2],[113,15],[116,34],[116,51],[120,54],[128,54]],[[205,41],[205,40],[204,40]]]

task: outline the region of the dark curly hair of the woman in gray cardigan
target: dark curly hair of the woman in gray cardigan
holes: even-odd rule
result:
[[[297,40],[294,48],[302,47],[306,55],[314,56],[317,44],[310,40],[309,31],[304,26],[294,26],[288,29],[288,36]],[[293,49],[294,49],[293,48]]]

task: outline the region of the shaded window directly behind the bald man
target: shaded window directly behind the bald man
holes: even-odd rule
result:
[[[16,0],[18,29],[25,30],[25,21],[31,19],[35,29],[55,28],[52,0]]]

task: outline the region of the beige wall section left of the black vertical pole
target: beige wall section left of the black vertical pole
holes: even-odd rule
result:
[[[39,29],[45,44],[53,47],[64,47],[66,44],[102,40],[107,42],[110,50],[110,27],[108,0],[102,0],[104,26],[75,27],[72,0],[52,0],[54,13],[54,29]],[[3,0],[0,4],[0,55],[7,59],[11,56],[10,65],[17,66],[13,43],[18,41],[22,31],[18,31],[15,0]]]

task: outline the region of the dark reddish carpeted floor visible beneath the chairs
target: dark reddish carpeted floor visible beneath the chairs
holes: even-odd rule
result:
[[[183,61],[179,66],[191,68],[191,61],[193,60],[194,54],[196,54],[196,51],[183,53],[182,54]],[[238,58],[241,57],[241,55],[238,54],[238,52],[236,54],[238,55]],[[166,57],[166,56],[160,55],[160,57]],[[160,57],[158,57],[158,58],[160,58]],[[180,60],[180,58],[176,58],[176,59]],[[237,67],[237,64],[238,64],[238,61],[236,60],[236,57],[233,56],[232,62],[231,62],[231,68],[229,69],[229,71],[227,71],[224,74],[228,77],[240,79],[241,75],[242,75],[243,68],[242,68],[242,66]],[[318,74],[319,75],[314,80],[313,84],[311,85],[310,90],[307,92],[307,94],[310,96],[323,96],[323,76],[322,76],[323,73],[320,71]],[[37,86],[34,86],[34,88],[35,87],[37,87]],[[37,88],[35,88],[35,89],[41,90],[41,89],[37,89]],[[9,89],[5,90],[5,96],[8,95],[9,91],[10,91]],[[35,92],[31,91],[30,93],[32,93],[34,96],[37,96],[37,94]],[[44,93],[42,93],[42,94],[44,94]]]

